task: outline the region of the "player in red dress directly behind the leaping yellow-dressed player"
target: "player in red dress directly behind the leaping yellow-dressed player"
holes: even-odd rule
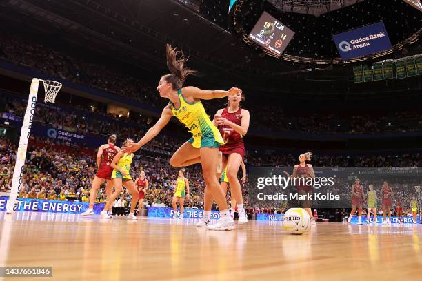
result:
[[[237,211],[239,214],[239,224],[248,222],[248,215],[243,206],[243,196],[241,184],[237,178],[239,167],[245,158],[245,144],[243,136],[248,132],[250,114],[248,110],[241,108],[240,102],[243,96],[241,92],[228,97],[228,106],[221,108],[214,116],[213,123],[217,125],[224,144],[220,146],[219,153],[222,154],[223,169],[227,167],[227,178],[230,184],[230,193],[236,200]],[[220,178],[221,171],[217,174]],[[205,189],[204,194],[204,212],[203,217],[197,223],[197,227],[206,227],[210,222],[212,194]],[[233,208],[233,207],[232,207]]]

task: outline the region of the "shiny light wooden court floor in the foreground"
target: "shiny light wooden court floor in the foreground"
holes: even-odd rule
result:
[[[0,266],[53,267],[35,280],[422,280],[421,225],[327,222],[292,236],[280,222],[195,222],[1,212]]]

